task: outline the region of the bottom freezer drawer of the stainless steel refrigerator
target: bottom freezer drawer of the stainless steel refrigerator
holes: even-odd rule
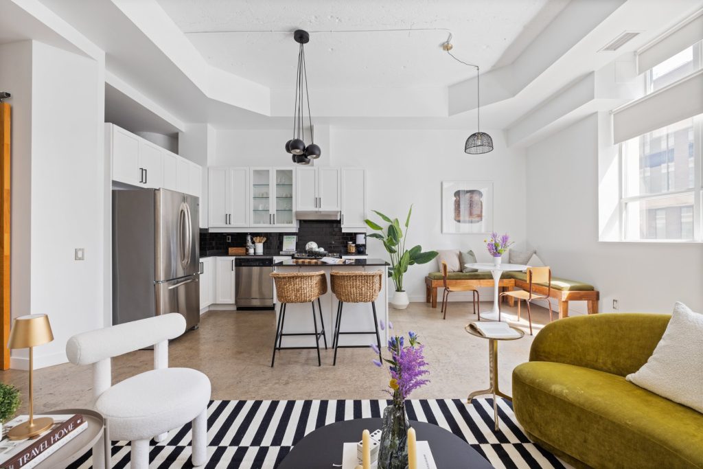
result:
[[[186,318],[186,330],[200,323],[199,274],[157,283],[156,314],[181,313]]]

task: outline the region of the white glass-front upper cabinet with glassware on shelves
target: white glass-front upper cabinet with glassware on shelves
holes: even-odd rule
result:
[[[252,226],[295,226],[295,170],[252,168]]]

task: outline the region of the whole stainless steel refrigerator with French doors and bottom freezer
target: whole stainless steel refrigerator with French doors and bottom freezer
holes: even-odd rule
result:
[[[200,322],[197,197],[112,191],[112,323],[177,312]]]

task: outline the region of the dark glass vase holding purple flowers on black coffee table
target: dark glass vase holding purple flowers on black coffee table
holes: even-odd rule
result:
[[[408,466],[408,416],[405,403],[392,404],[383,411],[378,469],[406,469]]]

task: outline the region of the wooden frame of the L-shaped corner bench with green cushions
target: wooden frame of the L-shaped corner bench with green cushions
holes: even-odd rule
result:
[[[450,287],[461,285],[470,286],[473,288],[494,287],[495,285],[492,278],[448,278],[447,284]],[[437,307],[437,290],[439,288],[444,288],[444,281],[441,277],[425,277],[426,301],[432,304],[433,308]],[[501,280],[498,281],[498,289],[501,291],[510,291],[514,290],[515,288],[527,290],[529,288],[529,284],[527,283],[527,281],[524,281],[520,278],[515,278],[511,273],[505,272],[503,276],[501,276]],[[534,293],[538,293],[539,295],[547,295],[546,286],[532,285],[532,290],[534,291]],[[598,290],[558,290],[557,288],[555,288],[553,282],[549,296],[557,300],[560,318],[566,318],[569,316],[570,301],[585,301],[588,304],[588,314],[598,313],[598,300],[600,297]],[[505,297],[503,297],[503,301],[507,301],[511,307],[515,305],[515,299],[512,297],[508,297],[507,300]]]

